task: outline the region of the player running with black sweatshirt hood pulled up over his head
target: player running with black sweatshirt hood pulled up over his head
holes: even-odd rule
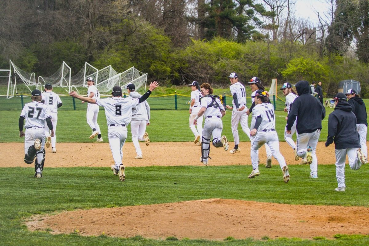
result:
[[[315,150],[318,144],[325,108],[320,101],[310,94],[309,82],[302,80],[296,83],[299,95],[287,116],[286,133],[292,134],[292,126],[296,120],[297,156],[306,157],[310,164],[310,178],[318,178],[318,160]],[[296,119],[297,117],[297,119]]]

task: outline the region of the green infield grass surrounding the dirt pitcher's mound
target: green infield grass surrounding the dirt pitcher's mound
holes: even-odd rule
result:
[[[357,235],[337,240],[151,240],[107,236],[51,235],[30,232],[22,224],[32,214],[206,198],[230,198],[287,204],[368,206],[369,166],[346,169],[347,189],[336,187],[333,165],[319,166],[320,178],[309,179],[308,166],[291,166],[291,181],[282,182],[279,168],[261,169],[261,176],[247,179],[249,166],[127,167],[125,182],[118,182],[108,168],[45,168],[44,178],[33,178],[32,168],[0,168],[1,245],[368,245]],[[93,179],[91,178],[93,177]],[[255,211],[257,214],[257,211]],[[266,235],[268,236],[268,235]],[[283,235],[281,235],[283,236]],[[348,241],[349,240],[349,241]]]

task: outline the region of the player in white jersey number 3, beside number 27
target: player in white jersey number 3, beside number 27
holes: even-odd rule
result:
[[[51,122],[52,127],[54,129],[54,137],[50,136],[50,129],[45,124],[45,135],[46,135],[46,148],[50,147],[51,144],[51,151],[56,153],[56,124],[58,124],[58,108],[60,108],[63,103],[60,99],[59,95],[52,91],[51,84],[45,84],[45,92],[42,93],[41,102],[48,106],[51,111]]]

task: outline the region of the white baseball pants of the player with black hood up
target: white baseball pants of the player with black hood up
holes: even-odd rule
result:
[[[316,148],[320,136],[320,130],[315,130],[312,133],[297,134],[297,156],[300,158],[306,157],[307,147],[311,146],[311,157],[313,161],[310,164],[310,175],[318,175],[318,160],[316,155]]]

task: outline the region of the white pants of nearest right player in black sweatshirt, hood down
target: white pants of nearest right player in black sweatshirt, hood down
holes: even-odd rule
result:
[[[336,178],[338,187],[346,187],[345,185],[345,162],[346,154],[348,156],[348,163],[352,170],[358,170],[361,167],[361,162],[358,159],[356,151],[358,148],[349,148],[342,150],[335,150],[336,152]]]

